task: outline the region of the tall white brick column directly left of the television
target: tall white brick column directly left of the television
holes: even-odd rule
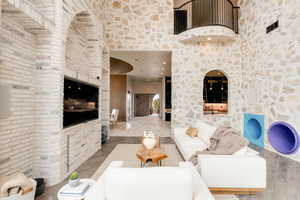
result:
[[[61,181],[63,163],[62,2],[55,4],[55,30],[37,35],[36,134],[34,171],[47,185]]]

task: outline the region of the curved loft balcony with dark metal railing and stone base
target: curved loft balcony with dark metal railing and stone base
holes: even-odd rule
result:
[[[190,0],[174,8],[174,34],[180,41],[235,40],[238,11],[230,0]]]

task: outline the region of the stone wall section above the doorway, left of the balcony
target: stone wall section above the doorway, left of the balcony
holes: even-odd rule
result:
[[[108,0],[106,11],[106,38],[110,49],[171,48],[173,0]]]

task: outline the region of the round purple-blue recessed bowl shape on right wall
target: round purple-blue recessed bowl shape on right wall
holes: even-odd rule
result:
[[[275,122],[268,130],[272,147],[282,154],[293,154],[299,149],[299,135],[295,128],[286,122]]]

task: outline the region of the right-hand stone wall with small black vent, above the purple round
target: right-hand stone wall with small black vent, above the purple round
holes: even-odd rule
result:
[[[286,121],[300,131],[300,4],[291,1],[241,1],[243,110],[265,116],[267,129]],[[266,27],[279,20],[279,28]],[[300,152],[290,155],[300,161]]]

